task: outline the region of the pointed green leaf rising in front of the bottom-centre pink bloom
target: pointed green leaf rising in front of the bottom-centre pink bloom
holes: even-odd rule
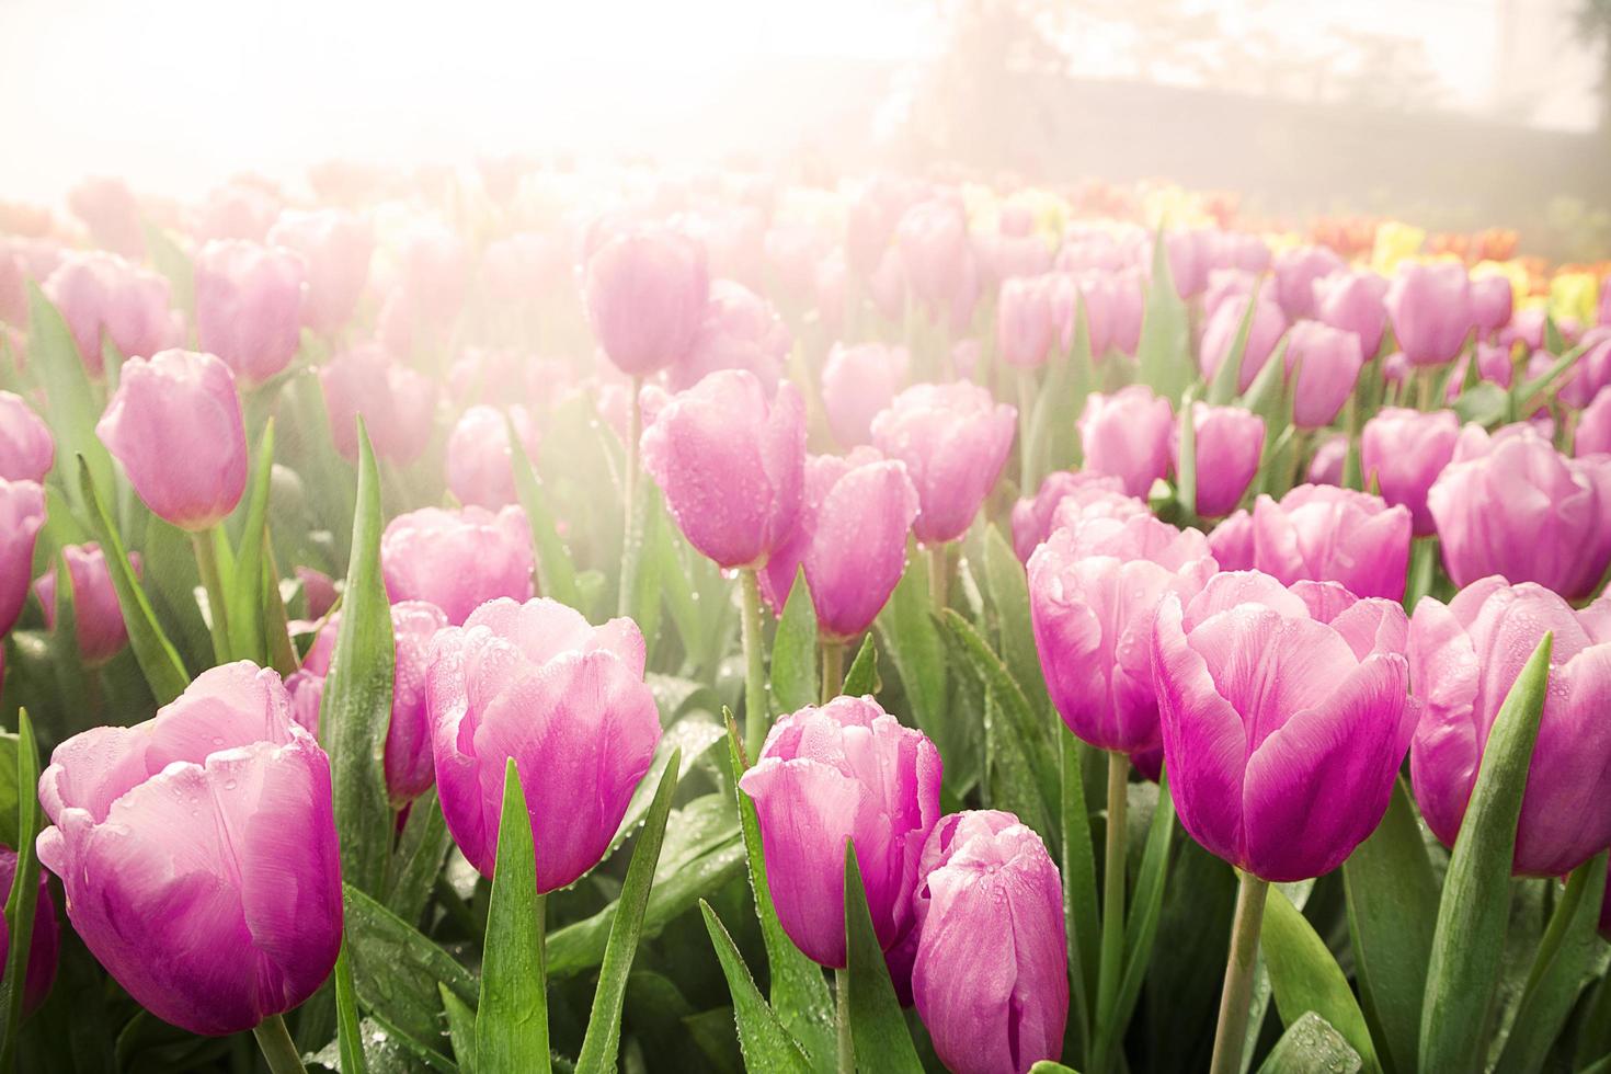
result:
[[[851,1042],[855,1045],[855,1068],[880,1074],[921,1074],[923,1064],[912,1047],[901,1000],[889,981],[884,952],[873,932],[873,915],[867,908],[867,887],[855,861],[855,845],[844,844],[844,952],[843,981],[851,990]]]

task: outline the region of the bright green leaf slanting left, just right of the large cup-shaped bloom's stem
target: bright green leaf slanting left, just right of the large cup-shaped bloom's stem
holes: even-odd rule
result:
[[[1381,1071],[1371,1032],[1348,989],[1348,979],[1326,948],[1326,940],[1315,932],[1315,926],[1274,884],[1269,886],[1260,942],[1281,1021],[1294,1026],[1307,1011],[1315,1011],[1336,1026],[1360,1053],[1366,1071]]]

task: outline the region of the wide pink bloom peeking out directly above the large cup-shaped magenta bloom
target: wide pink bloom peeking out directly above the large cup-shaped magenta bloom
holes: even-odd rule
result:
[[[1339,581],[1355,596],[1402,601],[1410,509],[1331,485],[1298,485],[1253,504],[1253,565],[1282,585]]]

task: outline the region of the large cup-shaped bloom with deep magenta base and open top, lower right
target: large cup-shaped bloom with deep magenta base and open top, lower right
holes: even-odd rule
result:
[[[1221,573],[1153,631],[1170,794],[1203,849],[1265,881],[1342,865],[1387,812],[1410,747],[1394,601]]]

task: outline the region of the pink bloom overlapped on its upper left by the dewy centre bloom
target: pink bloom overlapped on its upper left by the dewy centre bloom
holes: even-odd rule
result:
[[[796,570],[806,567],[817,625],[843,641],[867,630],[905,572],[907,533],[917,518],[917,489],[905,465],[872,448],[849,457],[806,461],[799,523],[772,551],[760,593],[781,613]]]

